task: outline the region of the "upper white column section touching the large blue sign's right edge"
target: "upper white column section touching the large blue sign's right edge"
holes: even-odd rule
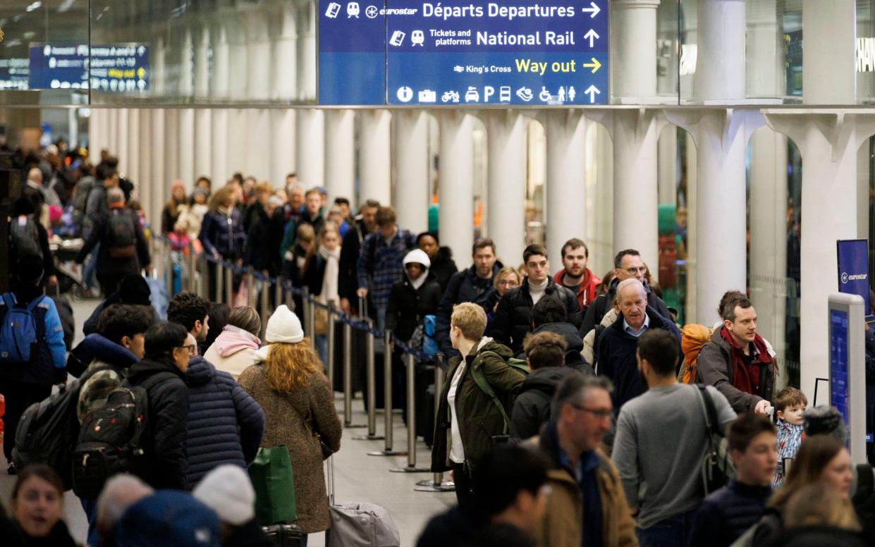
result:
[[[620,102],[651,102],[656,95],[656,9],[660,0],[612,0],[611,92]],[[585,21],[585,19],[584,19]],[[605,37],[606,38],[606,37]],[[624,101],[627,100],[627,101]]]

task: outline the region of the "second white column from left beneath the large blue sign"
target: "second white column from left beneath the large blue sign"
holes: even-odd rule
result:
[[[388,110],[362,110],[359,121],[359,200],[388,205],[392,197],[392,115]]]

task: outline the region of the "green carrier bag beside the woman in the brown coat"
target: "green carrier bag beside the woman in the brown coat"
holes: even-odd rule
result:
[[[286,446],[259,448],[249,464],[255,488],[255,520],[259,526],[295,522],[295,480]]]

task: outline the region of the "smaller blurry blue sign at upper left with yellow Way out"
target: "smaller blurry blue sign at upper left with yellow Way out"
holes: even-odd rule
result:
[[[149,46],[31,46],[31,89],[142,93],[149,88]]]

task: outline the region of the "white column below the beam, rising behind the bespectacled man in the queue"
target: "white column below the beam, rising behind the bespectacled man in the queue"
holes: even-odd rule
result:
[[[655,67],[654,67],[655,69]],[[654,89],[655,92],[655,89]],[[664,120],[658,110],[598,111],[613,140],[613,247],[637,249],[659,274],[659,193],[656,141]]]

